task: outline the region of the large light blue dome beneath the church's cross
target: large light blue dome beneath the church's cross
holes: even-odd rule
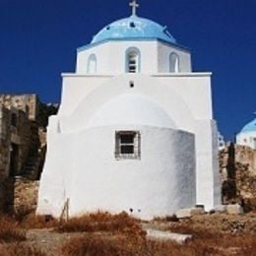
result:
[[[91,43],[116,39],[160,39],[176,43],[166,27],[135,15],[109,24],[94,36]]]

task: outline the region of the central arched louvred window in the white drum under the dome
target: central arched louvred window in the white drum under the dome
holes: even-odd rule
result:
[[[139,73],[140,72],[140,51],[137,48],[130,48],[126,52],[126,72]]]

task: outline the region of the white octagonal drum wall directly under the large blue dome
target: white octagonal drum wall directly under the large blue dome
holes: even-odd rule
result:
[[[141,74],[169,72],[169,55],[175,52],[180,59],[180,72],[191,72],[191,56],[188,50],[152,41],[110,41],[79,50],[77,55],[77,74],[87,74],[88,60],[96,55],[96,74],[120,75],[126,73],[126,50],[138,48],[141,58]]]

